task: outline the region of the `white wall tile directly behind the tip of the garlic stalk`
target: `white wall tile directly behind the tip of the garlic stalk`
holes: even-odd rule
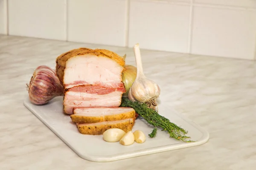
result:
[[[188,5],[131,0],[129,47],[139,42],[141,48],[187,52],[189,9]]]

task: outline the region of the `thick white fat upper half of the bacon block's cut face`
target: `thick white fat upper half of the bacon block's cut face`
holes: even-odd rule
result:
[[[122,84],[123,67],[109,57],[86,54],[67,60],[64,70],[64,86],[100,85],[118,88]]]

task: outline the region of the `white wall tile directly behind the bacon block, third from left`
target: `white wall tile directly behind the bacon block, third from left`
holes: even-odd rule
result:
[[[68,0],[67,40],[125,46],[126,0]]]

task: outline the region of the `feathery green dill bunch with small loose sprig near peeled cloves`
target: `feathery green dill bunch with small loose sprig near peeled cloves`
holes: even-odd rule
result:
[[[132,102],[128,98],[122,97],[122,103],[120,106],[134,108],[136,113],[142,116],[149,124],[153,125],[154,127],[161,127],[162,131],[164,130],[167,133],[169,133],[169,136],[171,138],[181,140],[183,142],[194,142],[191,140],[186,140],[190,138],[189,136],[185,135],[187,133],[186,130],[170,122],[169,119],[165,118],[164,116],[161,116],[154,109],[148,108],[145,103]],[[154,128],[154,130],[152,131],[152,133],[149,134],[149,136],[151,138],[155,137],[156,133],[157,128]]]

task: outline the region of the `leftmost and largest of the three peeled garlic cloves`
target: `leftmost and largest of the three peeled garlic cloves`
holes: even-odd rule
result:
[[[103,133],[106,142],[118,142],[125,135],[125,131],[118,128],[108,129]]]

